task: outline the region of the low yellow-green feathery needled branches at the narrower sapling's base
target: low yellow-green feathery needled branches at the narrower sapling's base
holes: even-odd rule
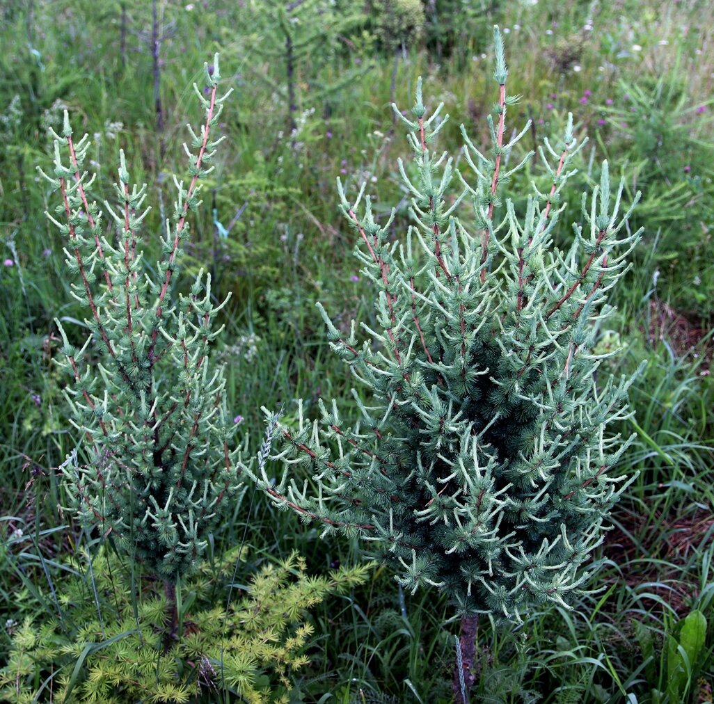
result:
[[[293,553],[264,565],[226,609],[217,599],[240,550],[202,563],[183,589],[178,640],[164,650],[166,596],[139,583],[139,599],[121,578],[116,555],[74,558],[54,583],[61,618],[17,623],[0,701],[288,702],[293,673],[308,663],[313,633],[307,610],[328,594],[362,583],[367,565],[308,575]]]

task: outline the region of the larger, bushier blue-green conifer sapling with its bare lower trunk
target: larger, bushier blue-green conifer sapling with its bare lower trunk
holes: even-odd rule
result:
[[[625,224],[623,183],[608,164],[583,194],[567,251],[553,246],[561,196],[584,141],[568,119],[560,145],[545,139],[549,187],[502,200],[531,158],[508,158],[528,125],[506,141],[506,61],[496,28],[498,103],[493,144],[480,151],[462,126],[468,172],[436,151],[448,116],[431,114],[421,81],[408,128],[411,164],[398,161],[412,224],[392,241],[392,211],[378,222],[361,188],[341,209],[356,256],[376,288],[378,329],[344,335],[320,307],[333,350],[368,397],[353,391],[354,417],[322,403],[321,421],[300,406],[296,428],[279,426],[274,456],[285,471],[258,485],[278,508],[324,533],[358,535],[404,588],[434,587],[461,614],[454,690],[473,683],[479,614],[521,619],[545,603],[568,605],[598,568],[608,513],[627,481],[614,471],[628,441],[608,426],[628,415],[633,378],[595,381],[608,354],[593,346],[611,308],[607,292],[628,268],[640,233]],[[510,129],[508,130],[510,131]],[[637,198],[635,198],[635,201]],[[471,218],[462,217],[471,201]],[[295,467],[306,467],[316,491]],[[588,565],[588,566],[585,566]]]

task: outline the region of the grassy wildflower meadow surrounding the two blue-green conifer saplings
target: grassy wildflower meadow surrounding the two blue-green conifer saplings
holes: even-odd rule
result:
[[[416,17],[416,5],[399,5],[409,6]],[[598,354],[615,347],[623,351],[601,363],[597,381],[610,373],[629,377],[643,359],[649,363],[630,387],[634,415],[610,426],[623,437],[636,433],[613,471],[639,474],[613,508],[614,530],[595,550],[595,557],[605,560],[598,583],[607,589],[573,595],[573,612],[532,610],[515,630],[483,616],[473,698],[708,701],[713,680],[714,399],[708,301],[714,293],[714,258],[707,206],[713,191],[712,7],[698,0],[425,3],[421,31],[396,47],[378,36],[378,28],[391,26],[393,17],[382,20],[376,13],[391,4],[374,6],[378,10],[359,19],[361,3],[331,4],[336,18],[349,19],[349,26],[331,37],[330,61],[308,52],[294,64],[298,131],[292,136],[283,95],[263,80],[270,76],[284,89],[285,64],[253,51],[255,26],[246,13],[258,4],[157,0],[158,61],[150,45],[151,4],[1,4],[0,662],[8,660],[26,618],[37,633],[43,624],[42,632],[49,633],[59,619],[58,603],[67,618],[59,597],[69,588],[63,576],[69,560],[83,565],[92,595],[93,565],[96,575],[102,572],[99,535],[91,533],[87,542],[71,513],[59,509],[70,501],[59,466],[86,441],[69,422],[64,390],[71,377],[56,363],[64,357],[54,318],[78,347],[89,330],[82,328],[86,309],[71,297],[64,238],[44,216],[49,210],[59,219],[56,194],[34,173],[35,164],[48,174],[53,169],[47,126],[61,131],[68,109],[76,131],[89,133],[86,168],[96,174],[99,203],[114,202],[119,149],[131,155],[132,180],[149,183],[147,199],[154,205],[137,245],[144,248],[153,276],[174,200],[168,175],[185,174],[179,145],[185,124],[196,117],[187,86],[196,82],[204,96],[210,94],[198,69],[221,51],[224,84],[234,89],[231,109],[218,125],[228,139],[204,181],[203,207],[191,214],[175,293],[190,296],[191,280],[203,268],[211,273],[213,306],[233,294],[217,315],[216,328],[223,323],[226,328],[214,343],[213,358],[226,363],[227,417],[236,421],[241,437],[251,438],[246,457],[255,456],[264,433],[261,405],[282,407],[288,427],[297,425],[296,398],[303,398],[306,418],[319,415],[320,398],[336,399],[341,417],[353,417],[355,383],[328,346],[316,301],[345,336],[352,319],[379,329],[372,283],[351,254],[354,233],[336,209],[336,176],[346,193],[357,193],[366,181],[376,222],[382,226],[395,205],[390,237],[405,232],[411,196],[394,164],[410,148],[403,130],[393,129],[388,106],[392,101],[410,105],[423,76],[428,104],[443,101],[444,113],[463,119],[474,146],[488,149],[484,116],[492,109],[493,90],[487,67],[493,61],[492,27],[499,24],[514,47],[509,92],[522,96],[509,108],[508,121],[523,125],[531,119],[504,169],[535,152],[513,174],[509,192],[526,193],[532,179],[540,191],[550,188],[545,179],[538,180],[543,174],[538,147],[544,135],[563,134],[573,113],[575,136],[587,133],[590,142],[573,161],[578,174],[563,189],[562,202],[569,205],[561,222],[580,222],[580,193],[598,183],[605,159],[613,183],[625,175],[624,203],[636,191],[643,193],[630,221],[632,233],[644,227],[630,253],[635,266],[608,292],[608,303],[617,309],[600,328],[595,346]],[[301,13],[296,8],[290,14]],[[295,36],[311,34],[311,27],[292,29]],[[284,34],[277,26],[261,31],[271,35],[266,46],[282,46]],[[371,70],[360,76],[368,65]],[[156,67],[161,133],[156,130]],[[353,80],[341,81],[349,73]],[[323,100],[321,86],[338,89]],[[512,136],[508,130],[505,139]],[[443,145],[463,144],[458,121],[448,121],[439,139]],[[453,156],[455,168],[473,178],[463,153]],[[525,211],[525,202],[515,206],[517,213]],[[456,216],[468,222],[468,208],[466,198]],[[110,231],[102,234],[115,241]],[[561,250],[573,241],[567,228],[554,231],[553,238]],[[91,366],[96,359],[92,352]],[[369,405],[367,396],[361,401]],[[270,463],[266,471],[268,478],[279,479],[282,468]],[[240,505],[208,533],[207,561],[186,584],[202,580],[201,570],[213,569],[219,555],[238,545],[248,548],[248,561],[235,580],[211,573],[216,579],[210,593],[186,608],[186,623],[209,604],[225,608],[231,584],[231,602],[238,603],[236,593],[243,597],[251,574],[295,550],[306,559],[309,575],[328,579],[338,563],[357,563],[356,540],[320,540],[320,533],[314,526],[296,525],[290,513],[275,511],[248,488]],[[138,565],[119,555],[126,568]],[[136,573],[151,593],[160,593],[160,583],[138,566]],[[112,624],[107,615],[111,592],[121,583],[113,574],[115,586],[97,594],[102,618]],[[131,582],[131,570],[126,574]],[[191,589],[181,592],[182,603],[188,603]],[[702,623],[697,611],[706,621],[705,640],[690,650],[688,643],[699,643],[692,638],[700,633],[695,624]],[[84,610],[75,613],[85,618]],[[90,618],[96,620],[96,607],[93,615],[86,613],[87,623]],[[294,697],[450,701],[453,634],[458,633],[452,618],[453,608],[435,589],[411,595],[393,581],[391,570],[376,568],[364,585],[326,596],[301,617],[314,633],[304,651],[310,663],[290,674]],[[79,625],[67,625],[73,623]],[[71,628],[61,633],[61,638],[74,637]],[[101,639],[92,635],[91,640]],[[678,655],[670,657],[674,651]],[[101,658],[101,652],[88,658]],[[67,668],[73,657],[63,654],[56,663]],[[80,670],[84,677],[86,668]],[[43,693],[49,698],[48,690]],[[213,690],[210,695],[205,690],[206,697],[231,700]]]

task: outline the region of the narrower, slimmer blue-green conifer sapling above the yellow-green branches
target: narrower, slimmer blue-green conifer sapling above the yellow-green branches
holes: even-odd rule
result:
[[[149,212],[146,185],[130,186],[123,151],[115,202],[104,201],[116,239],[105,236],[102,208],[91,200],[95,177],[84,170],[89,139],[73,141],[66,111],[61,135],[51,131],[54,171],[40,171],[61,196],[48,217],[67,238],[67,266],[79,279],[72,295],[91,313],[91,336],[81,349],[56,321],[62,364],[73,379],[72,422],[89,456],[86,466],[63,467],[71,508],[81,526],[98,526],[159,575],[170,598],[201,560],[208,533],[233,508],[243,470],[223,371],[210,363],[211,342],[221,332],[212,329],[214,318],[228,299],[213,304],[203,271],[188,296],[174,296],[188,217],[201,206],[199,181],[213,170],[223,139],[215,131],[231,91],[219,96],[219,79],[216,55],[210,71],[206,65],[210,95],[194,84],[205,121],[198,134],[188,126],[190,181],[186,186],[174,176],[176,201],[154,271],[138,247]]]

